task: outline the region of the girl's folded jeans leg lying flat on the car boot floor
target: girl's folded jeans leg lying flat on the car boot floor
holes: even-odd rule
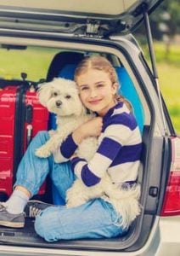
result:
[[[99,199],[74,208],[48,207],[37,216],[35,230],[46,241],[110,238],[124,232],[116,218],[110,204]]]

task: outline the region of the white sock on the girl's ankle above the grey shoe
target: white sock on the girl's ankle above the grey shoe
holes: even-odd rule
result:
[[[22,191],[15,189],[8,201],[4,203],[9,213],[18,214],[24,212],[25,206],[29,201],[29,197]]]

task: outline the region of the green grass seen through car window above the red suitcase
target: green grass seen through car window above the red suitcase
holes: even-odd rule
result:
[[[0,78],[21,79],[20,73],[27,73],[27,79],[46,79],[48,67],[59,49],[28,48],[25,50],[0,49]]]

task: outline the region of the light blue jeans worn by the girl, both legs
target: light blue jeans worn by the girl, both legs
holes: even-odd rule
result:
[[[65,199],[66,190],[75,180],[70,163],[56,164],[53,157],[38,158],[36,148],[48,140],[48,132],[41,131],[27,148],[17,172],[14,186],[21,185],[36,195],[49,174],[59,194]],[[61,239],[103,238],[121,235],[118,216],[109,202],[103,199],[88,201],[80,207],[52,206],[43,210],[35,220],[35,230],[46,241]]]

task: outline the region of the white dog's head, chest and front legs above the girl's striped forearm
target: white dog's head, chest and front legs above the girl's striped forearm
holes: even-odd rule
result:
[[[76,83],[68,79],[53,79],[52,82],[42,84],[38,90],[38,98],[49,112],[56,113],[57,130],[49,131],[50,139],[41,148],[37,148],[36,155],[46,158],[53,154],[55,162],[59,163],[62,159],[56,153],[59,152],[61,143],[79,125],[92,119],[93,114],[87,114],[79,98]],[[97,147],[97,138],[89,137],[79,146],[77,154],[89,160],[93,157]]]

